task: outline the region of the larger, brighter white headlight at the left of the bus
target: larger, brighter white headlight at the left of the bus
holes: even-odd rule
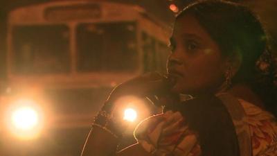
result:
[[[32,107],[20,107],[12,113],[12,124],[19,130],[31,130],[37,123],[38,115]]]

